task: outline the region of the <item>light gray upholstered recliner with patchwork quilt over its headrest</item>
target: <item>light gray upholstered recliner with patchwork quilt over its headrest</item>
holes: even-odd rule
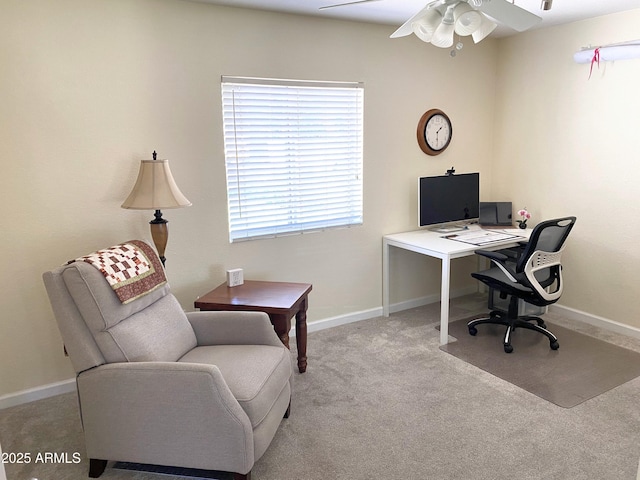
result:
[[[289,413],[289,351],[266,314],[185,313],[151,247],[123,245],[148,260],[142,287],[107,281],[95,257],[43,275],[77,372],[89,476],[114,460],[249,479]]]

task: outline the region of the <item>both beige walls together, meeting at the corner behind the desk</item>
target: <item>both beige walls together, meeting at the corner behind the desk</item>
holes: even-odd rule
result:
[[[392,26],[180,0],[5,0],[2,10],[0,398],[73,376],[41,274],[149,239],[151,212],[120,204],[154,149],[193,202],[165,212],[167,273],[185,309],[235,267],[313,283],[310,322],[379,308],[381,236],[415,227],[418,176],[455,165],[482,172],[484,198],[526,205],[534,220],[577,215],[563,304],[640,326],[640,61],[587,80],[571,59],[581,45],[636,38],[640,11],[486,40],[452,59],[388,39]],[[362,227],[228,243],[221,75],[365,82]],[[454,124],[435,158],[415,141],[433,107]],[[393,302],[437,296],[439,262],[392,261]],[[456,287],[472,286],[472,259],[455,263]]]

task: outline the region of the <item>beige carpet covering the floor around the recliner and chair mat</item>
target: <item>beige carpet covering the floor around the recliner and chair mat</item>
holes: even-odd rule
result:
[[[473,295],[452,299],[450,312],[456,320],[485,308],[486,297]],[[640,352],[640,339],[547,315]],[[295,371],[291,416],[253,480],[635,480],[640,377],[561,408],[440,350],[439,319],[435,303],[309,333],[309,367]],[[295,342],[291,350],[295,365]],[[490,350],[506,355],[499,342]],[[516,344],[511,360],[518,351]],[[32,458],[82,456],[78,464],[6,464],[8,480],[87,478],[73,393],[0,410],[0,443]],[[189,478],[181,473],[110,462],[100,480]]]

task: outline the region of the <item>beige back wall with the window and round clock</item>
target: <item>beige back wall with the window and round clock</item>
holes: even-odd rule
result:
[[[378,309],[381,236],[415,228],[417,177],[455,165],[483,172],[488,192],[493,159],[496,42],[452,59],[415,38],[390,40],[393,30],[179,0],[4,0],[0,398],[73,377],[42,272],[149,239],[152,213],[120,204],[154,149],[193,202],[164,212],[167,273],[185,309],[235,267],[313,283],[310,322]],[[363,226],[228,243],[221,75],[365,83]],[[415,141],[433,107],[455,132],[436,158]],[[437,262],[394,260],[407,266],[396,268],[394,302],[437,295]],[[457,267],[462,286],[472,266]]]

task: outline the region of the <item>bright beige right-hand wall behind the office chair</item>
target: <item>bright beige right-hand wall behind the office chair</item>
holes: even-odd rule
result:
[[[576,215],[564,306],[640,327],[640,59],[573,62],[588,45],[638,39],[640,10],[499,45],[494,195],[534,220]]]

